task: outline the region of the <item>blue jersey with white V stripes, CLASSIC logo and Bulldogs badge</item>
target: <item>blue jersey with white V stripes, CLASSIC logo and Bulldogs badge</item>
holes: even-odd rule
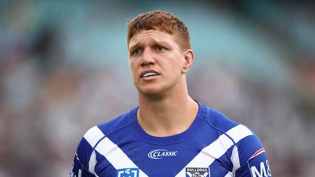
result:
[[[145,133],[138,107],[94,126],[79,143],[70,177],[271,177],[252,130],[198,104],[189,129],[173,136]]]

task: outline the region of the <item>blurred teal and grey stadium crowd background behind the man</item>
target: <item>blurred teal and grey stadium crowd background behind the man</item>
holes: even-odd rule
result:
[[[0,177],[68,176],[83,134],[137,105],[126,23],[180,17],[190,95],[251,127],[274,177],[315,174],[315,3],[0,0]]]

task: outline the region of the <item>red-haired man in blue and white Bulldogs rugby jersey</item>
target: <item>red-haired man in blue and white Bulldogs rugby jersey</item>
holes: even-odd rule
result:
[[[91,128],[71,177],[270,177],[246,126],[189,97],[193,61],[185,24],[168,12],[128,23],[128,60],[139,106]]]

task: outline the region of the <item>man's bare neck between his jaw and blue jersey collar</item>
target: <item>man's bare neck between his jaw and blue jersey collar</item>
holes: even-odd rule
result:
[[[198,103],[189,97],[187,87],[183,88],[159,99],[139,93],[137,118],[146,133],[171,136],[190,127],[197,116]]]

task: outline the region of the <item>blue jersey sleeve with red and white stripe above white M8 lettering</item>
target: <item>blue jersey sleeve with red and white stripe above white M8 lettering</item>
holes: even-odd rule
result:
[[[267,153],[255,133],[241,139],[236,146],[239,167],[235,177],[271,177]]]

